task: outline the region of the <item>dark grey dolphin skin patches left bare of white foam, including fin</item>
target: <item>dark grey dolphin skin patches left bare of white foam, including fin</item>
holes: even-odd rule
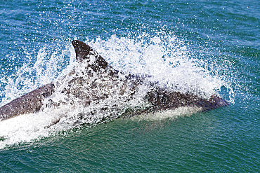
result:
[[[119,74],[122,76],[122,73],[113,69],[108,62],[106,62],[103,57],[95,54],[95,50],[90,46],[86,45],[86,43],[82,41],[74,40],[72,41],[72,45],[74,46],[74,50],[76,52],[76,60],[77,62],[89,61],[89,56],[94,55],[95,61],[89,64],[91,70],[99,72],[99,73],[107,73],[110,78],[117,79],[119,78]],[[88,74],[86,74],[88,75]],[[80,78],[76,78],[74,81],[79,80]],[[129,99],[132,99],[135,90],[138,90],[138,85],[143,84],[145,81],[145,76],[138,75],[126,75],[122,82],[131,83],[131,89],[133,92],[129,95]],[[73,82],[73,80],[72,80]],[[201,109],[201,111],[209,111],[212,109],[216,109],[223,106],[228,106],[228,102],[225,99],[222,99],[218,95],[214,94],[209,99],[201,98],[197,95],[191,93],[181,93],[173,90],[169,90],[169,88],[162,88],[156,83],[149,83],[150,90],[145,94],[143,99],[146,102],[150,103],[149,108],[139,110],[136,112],[131,112],[131,116],[139,113],[148,113],[152,111],[160,111],[165,109],[176,109],[180,106],[197,106]],[[15,116],[19,116],[25,113],[37,113],[41,109],[44,109],[44,99],[48,99],[53,93],[56,91],[56,84],[49,83],[47,85],[41,86],[32,92],[29,92],[22,97],[14,99],[10,103],[1,106],[0,108],[0,121],[6,120],[8,118],[13,118]],[[71,94],[70,90],[65,90],[67,95]],[[80,97],[79,98],[86,98]],[[106,95],[103,97],[99,97],[99,99],[105,99]],[[90,102],[89,100],[84,100],[83,102]],[[86,104],[87,105],[87,104]],[[126,112],[127,114],[127,112]]]

